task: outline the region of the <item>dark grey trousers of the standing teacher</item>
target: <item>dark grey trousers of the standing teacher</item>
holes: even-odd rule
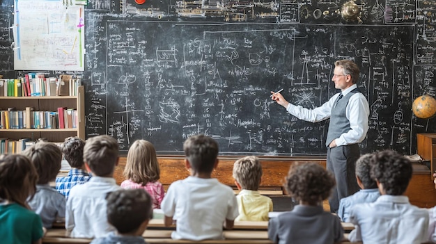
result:
[[[360,156],[358,144],[327,147],[327,170],[334,173],[336,186],[329,198],[330,211],[336,213],[339,201],[356,193],[360,188],[357,185],[355,165]]]

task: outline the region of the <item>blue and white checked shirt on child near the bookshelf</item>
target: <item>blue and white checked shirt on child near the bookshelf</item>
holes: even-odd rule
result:
[[[91,179],[91,175],[85,170],[72,168],[68,171],[68,176],[56,178],[56,190],[68,200],[71,188],[78,184],[84,184],[89,179]]]

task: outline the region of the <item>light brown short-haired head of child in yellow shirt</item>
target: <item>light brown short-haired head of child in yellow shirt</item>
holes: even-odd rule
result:
[[[233,164],[233,178],[244,190],[258,190],[262,165],[256,156],[240,158]]]

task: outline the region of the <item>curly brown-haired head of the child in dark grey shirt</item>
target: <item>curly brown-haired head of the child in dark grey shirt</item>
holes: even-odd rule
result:
[[[295,200],[315,206],[329,197],[334,184],[332,172],[318,163],[294,163],[290,166],[285,187]]]

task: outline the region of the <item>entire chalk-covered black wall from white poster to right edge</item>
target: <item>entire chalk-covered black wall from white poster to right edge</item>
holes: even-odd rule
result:
[[[114,136],[122,153],[143,138],[182,154],[205,133],[221,154],[325,155],[328,120],[297,120],[270,91],[320,106],[338,92],[334,61],[347,58],[371,106],[361,152],[414,154],[416,133],[436,132],[411,111],[436,93],[436,6],[356,1],[359,21],[346,22],[345,2],[88,1],[86,136]]]

